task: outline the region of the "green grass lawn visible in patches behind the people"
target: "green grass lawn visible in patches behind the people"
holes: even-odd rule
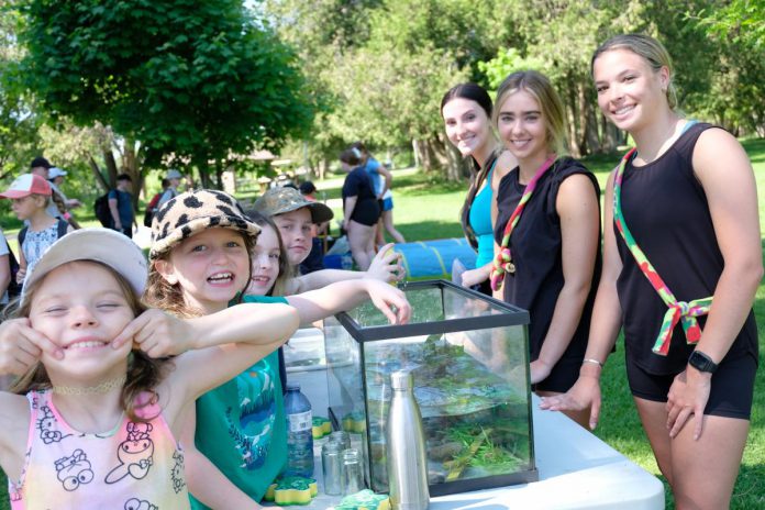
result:
[[[765,140],[744,142],[755,169],[757,187],[765,193]],[[608,171],[617,160],[612,157],[597,157],[586,160],[589,168],[596,171],[601,186],[605,185]],[[335,176],[318,188],[329,199],[340,197],[343,176]],[[409,241],[462,236],[458,222],[458,211],[465,193],[464,185],[435,182],[423,174],[414,170],[393,171],[395,219],[397,228]],[[337,212],[337,210],[335,210]],[[760,200],[760,221],[765,224],[765,199]],[[336,229],[335,229],[336,232]],[[765,285],[757,291],[754,311],[760,332],[760,362],[763,364],[765,343]],[[596,434],[630,459],[648,472],[658,475],[651,447],[643,434],[637,413],[632,403],[627,378],[624,375],[623,347],[620,345],[614,356],[603,370],[602,391],[603,406],[600,424]],[[731,508],[749,510],[765,508],[765,369],[757,372],[752,422],[736,481]],[[665,484],[666,486],[666,484]],[[5,480],[0,472],[0,510],[10,507],[5,496]],[[674,508],[672,496],[667,489],[667,508]]]

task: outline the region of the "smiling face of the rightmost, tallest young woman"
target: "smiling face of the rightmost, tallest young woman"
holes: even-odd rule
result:
[[[630,132],[651,125],[657,111],[668,109],[666,89],[669,71],[654,71],[640,55],[629,49],[600,54],[592,65],[598,106],[617,127]]]

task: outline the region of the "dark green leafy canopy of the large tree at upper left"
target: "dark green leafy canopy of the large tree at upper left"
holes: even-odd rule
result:
[[[15,0],[26,85],[54,115],[141,142],[148,166],[203,174],[310,125],[295,56],[237,0]]]

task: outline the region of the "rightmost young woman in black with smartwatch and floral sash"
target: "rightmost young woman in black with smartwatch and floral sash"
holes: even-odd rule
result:
[[[763,267],[752,166],[729,133],[675,110],[657,41],[616,36],[591,70],[600,109],[635,151],[608,182],[586,357],[603,363],[623,326],[630,389],[677,508],[728,508],[757,368],[752,303]],[[583,365],[569,393],[543,408],[591,408],[595,426],[599,363]]]

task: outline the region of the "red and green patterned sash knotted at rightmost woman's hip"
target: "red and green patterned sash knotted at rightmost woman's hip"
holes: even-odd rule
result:
[[[627,163],[630,160],[632,155],[635,153],[635,148],[630,149],[622,158],[619,167],[617,167],[617,174],[613,178],[613,222],[617,224],[617,229],[624,239],[627,247],[632,253],[637,262],[637,267],[643,271],[643,275],[648,279],[651,286],[656,290],[658,297],[667,306],[668,310],[664,314],[664,320],[662,321],[662,329],[658,332],[656,342],[653,346],[653,352],[666,356],[669,352],[669,343],[672,341],[672,332],[677,325],[677,322],[683,323],[683,330],[685,330],[686,340],[689,344],[695,344],[701,337],[701,328],[699,326],[697,317],[706,315],[712,307],[712,297],[703,299],[695,299],[690,302],[678,301],[675,295],[672,293],[669,287],[664,282],[656,269],[648,262],[643,251],[637,246],[635,239],[632,236],[630,229],[627,228],[627,222],[624,221],[624,215],[621,210],[621,184],[624,177],[624,168]]]

